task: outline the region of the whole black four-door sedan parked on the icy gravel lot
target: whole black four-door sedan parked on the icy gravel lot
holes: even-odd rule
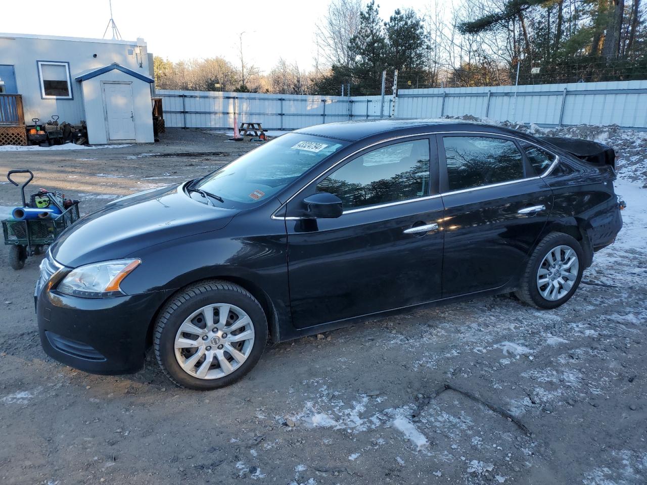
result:
[[[559,307],[622,226],[613,150],[593,148],[449,120],[287,133],[66,230],[36,286],[41,342],[99,374],[152,346],[173,382],[214,389],[268,338],[501,293]]]

